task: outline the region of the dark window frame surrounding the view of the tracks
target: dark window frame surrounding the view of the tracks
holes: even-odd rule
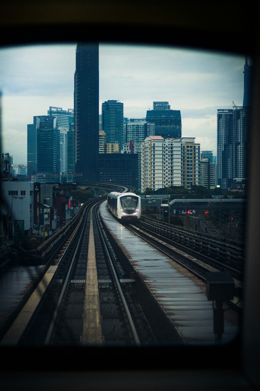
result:
[[[90,2],[91,3],[91,2]],[[112,2],[113,3],[113,2]],[[141,4],[144,5],[145,9],[149,8],[148,6],[146,7],[147,3],[145,1],[140,2]],[[166,2],[167,3],[167,2]],[[196,4],[204,4],[205,2],[196,2]],[[114,2],[113,5],[117,5],[117,2]],[[168,4],[168,3],[167,3]],[[228,6],[230,6],[232,2],[228,2]],[[252,5],[252,2],[249,2],[250,5]],[[17,4],[15,4],[17,5]],[[93,20],[91,18],[87,19],[87,16],[85,18],[87,19],[84,20],[83,22],[79,21],[72,21],[71,19],[67,18],[67,20],[62,21],[59,19],[59,16],[57,16],[58,21],[61,23],[62,27],[67,29],[67,32],[65,32],[65,29],[62,31],[58,31],[57,25],[52,25],[50,22],[48,23],[47,20],[44,19],[44,8],[41,8],[42,5],[46,6],[45,2],[39,2],[38,4],[35,4],[35,6],[38,6],[40,10],[42,11],[38,13],[39,15],[39,23],[46,24],[49,29],[48,31],[42,31],[42,32],[37,32],[37,30],[34,30],[34,36],[31,33],[31,28],[34,26],[34,23],[32,22],[34,18],[32,18],[32,11],[34,11],[34,7],[31,7],[31,2],[28,1],[25,3],[25,8],[23,11],[28,13],[28,16],[25,17],[25,21],[21,21],[19,18],[17,11],[16,13],[14,12],[13,14],[13,21],[11,17],[7,17],[5,20],[5,23],[1,25],[1,37],[3,38],[3,43],[2,45],[8,46],[8,45],[20,45],[23,43],[35,43],[35,42],[53,42],[53,41],[77,41],[78,37],[83,37],[90,39],[90,41],[110,41],[110,42],[118,42],[118,41],[128,41],[130,44],[133,42],[136,43],[149,43],[150,45],[154,43],[159,43],[162,45],[173,45],[172,41],[172,36],[176,37],[175,38],[175,45],[180,45],[180,46],[191,46],[191,47],[198,47],[197,42],[201,42],[201,46],[206,49],[211,49],[211,50],[223,50],[229,52],[230,50],[232,52],[236,53],[241,53],[245,52],[248,50],[248,54],[251,54],[252,57],[254,57],[254,64],[255,64],[255,86],[254,86],[254,91],[253,91],[253,125],[252,125],[252,134],[253,134],[253,142],[251,141],[250,145],[250,150],[251,150],[251,167],[253,169],[251,170],[251,175],[249,178],[249,191],[248,191],[248,206],[247,206],[247,215],[248,215],[248,222],[247,222],[247,233],[246,233],[246,259],[248,261],[247,264],[247,269],[245,271],[245,289],[246,289],[246,294],[245,294],[245,308],[244,308],[244,315],[243,315],[243,323],[242,323],[242,334],[238,337],[236,341],[236,345],[232,346],[215,346],[215,347],[182,347],[181,350],[179,347],[158,347],[158,348],[151,348],[151,349],[144,349],[144,348],[138,348],[138,357],[136,355],[136,349],[134,348],[124,348],[124,351],[122,349],[117,349],[117,348],[105,348],[105,350],[101,350],[100,348],[76,348],[76,347],[70,347],[69,349],[67,348],[23,348],[21,346],[18,346],[16,348],[8,348],[8,347],[1,347],[0,351],[2,352],[2,355],[10,353],[10,350],[12,353],[16,356],[16,362],[14,364],[14,370],[19,371],[20,366],[19,363],[23,361],[24,355],[26,354],[32,354],[32,355],[37,355],[38,361],[32,362],[31,363],[31,370],[39,370],[39,368],[42,370],[52,370],[57,366],[57,357],[59,358],[60,362],[59,364],[64,364],[64,369],[68,369],[68,362],[66,363],[66,359],[69,360],[70,357],[76,357],[79,352],[88,352],[88,355],[94,357],[93,361],[89,364],[88,371],[96,371],[96,363],[95,359],[99,359],[101,356],[106,361],[107,366],[103,366],[103,370],[105,369],[110,369],[110,370],[115,370],[113,364],[112,364],[112,358],[117,359],[117,357],[123,357],[126,359],[120,360],[121,362],[119,363],[118,369],[122,370],[137,370],[140,371],[142,370],[157,370],[157,371],[171,371],[172,367],[174,366],[175,370],[185,370],[187,368],[193,369],[193,370],[203,370],[203,371],[210,371],[212,368],[217,368],[217,369],[222,369],[223,371],[228,368],[232,369],[234,371],[239,371],[242,370],[244,374],[250,379],[252,382],[253,386],[259,383],[259,374],[258,368],[257,368],[257,358],[259,359],[259,330],[256,328],[257,327],[257,322],[259,321],[259,318],[257,316],[255,318],[252,317],[252,314],[254,313],[254,306],[258,306],[259,308],[259,291],[258,291],[258,283],[257,283],[257,273],[256,271],[258,270],[257,268],[257,260],[258,260],[258,235],[257,232],[260,231],[260,226],[259,222],[256,221],[255,218],[255,207],[257,205],[257,192],[256,192],[256,186],[255,183],[258,183],[258,172],[259,170],[256,169],[256,167],[259,167],[259,160],[258,160],[258,151],[257,151],[257,145],[260,145],[260,136],[258,132],[258,124],[260,123],[260,114],[258,113],[258,107],[260,107],[260,97],[259,97],[259,91],[260,91],[260,76],[259,76],[259,71],[260,71],[260,61],[259,57],[256,56],[256,54],[259,53],[259,41],[257,41],[257,32],[259,33],[259,27],[258,30],[256,29],[257,25],[257,19],[259,22],[259,9],[255,10],[255,14],[253,14],[252,18],[249,18],[248,14],[246,13],[245,15],[245,20],[246,23],[249,23],[249,19],[251,20],[251,23],[253,25],[253,35],[255,34],[256,37],[254,37],[253,42],[251,42],[251,35],[252,35],[252,30],[245,26],[245,34],[242,36],[241,41],[234,42],[233,43],[233,48],[230,48],[230,44],[227,42],[226,38],[226,30],[221,30],[221,26],[214,25],[212,29],[209,27],[207,22],[205,21],[204,25],[204,30],[203,28],[200,30],[198,29],[198,25],[196,23],[199,23],[201,21],[201,18],[198,18],[197,22],[192,22],[192,19],[190,18],[191,16],[191,11],[194,11],[194,7],[192,6],[191,2],[184,2],[182,4],[182,7],[186,6],[191,6],[191,11],[190,13],[187,13],[187,9],[184,11],[184,8],[180,7],[180,9],[183,10],[184,14],[185,12],[188,15],[189,22],[191,23],[191,27],[185,23],[184,20],[181,18],[180,11],[177,9],[177,16],[180,16],[180,23],[178,23],[175,20],[175,24],[172,23],[173,25],[170,24],[170,22],[167,23],[162,23],[162,26],[160,30],[157,30],[157,27],[159,26],[159,23],[156,22],[156,20],[153,18],[150,22],[150,25],[153,29],[151,32],[147,31],[149,30],[147,28],[147,25],[145,24],[144,26],[141,26],[138,24],[138,14],[131,14],[133,20],[130,20],[128,22],[128,26],[134,26],[135,29],[131,31],[132,36],[131,39],[127,36],[127,31],[128,29],[125,29],[125,31],[122,31],[121,37],[118,37],[118,30],[120,27],[124,26],[124,24],[121,23],[121,21],[117,21],[115,18],[111,17],[112,23],[111,22],[97,22],[96,20]],[[103,10],[103,15],[105,15],[105,12],[108,10],[106,2],[104,2],[104,10]],[[152,2],[153,5],[153,2]],[[136,7],[136,3],[134,2],[134,6]],[[14,5],[7,5],[4,4],[4,9],[3,11],[6,10],[9,12],[9,14],[12,14],[12,9]],[[30,9],[30,7],[32,9]],[[238,8],[238,6],[237,6]],[[18,7],[19,9],[19,7]],[[207,10],[209,12],[210,6],[207,5]],[[229,8],[230,9],[230,8]],[[160,10],[159,10],[160,11]],[[159,12],[158,11],[158,12]],[[216,10],[214,7],[212,7],[211,11],[214,13]],[[239,12],[237,9],[235,10],[235,13]],[[250,10],[252,12],[252,10]],[[163,13],[163,10],[161,10],[161,13]],[[4,13],[5,14],[5,13]],[[194,20],[196,20],[196,15],[198,14],[195,13],[195,16],[193,17]],[[228,13],[227,13],[228,14]],[[148,15],[151,15],[150,10],[148,10]],[[134,16],[136,16],[137,20],[134,21]],[[198,16],[198,15],[197,15]],[[243,15],[242,15],[243,16]],[[241,16],[241,17],[242,17]],[[30,20],[31,17],[31,20]],[[225,17],[225,16],[224,16]],[[41,19],[42,18],[42,19]],[[235,19],[235,16],[234,16]],[[104,18],[106,21],[106,18]],[[242,20],[242,19],[240,19]],[[166,21],[168,21],[168,18],[166,18]],[[147,22],[146,22],[147,23]],[[225,24],[225,23],[224,23]],[[239,24],[239,23],[237,23]],[[259,25],[260,23],[258,23]],[[148,23],[149,26],[149,23]],[[235,29],[235,24],[232,24],[231,26],[233,27],[229,30],[231,34],[235,32],[238,33],[240,32],[239,29]],[[85,33],[83,32],[84,28],[87,29],[85,30]],[[202,27],[203,27],[203,22],[202,22]],[[104,35],[101,33],[101,28],[106,31],[106,39],[104,39]],[[44,29],[46,30],[46,29]],[[71,36],[68,37],[68,32],[71,32]],[[208,36],[205,37],[205,31],[207,32]],[[250,33],[249,33],[250,32]],[[90,34],[89,34],[90,33]],[[178,34],[179,33],[179,34]],[[84,35],[85,34],[85,35]],[[151,36],[149,35],[151,34]],[[170,34],[170,35],[169,35]],[[88,35],[88,37],[87,37]],[[183,36],[182,36],[183,35]],[[54,39],[55,37],[55,39]],[[67,39],[64,39],[64,37]],[[91,39],[92,38],[92,39]],[[95,38],[95,39],[94,39]],[[98,38],[98,39],[96,39]],[[210,42],[211,39],[211,42]],[[222,46],[220,45],[220,42],[222,41]],[[233,39],[233,41],[236,41]],[[237,41],[239,41],[237,39]],[[248,45],[248,42],[250,43]],[[243,48],[243,50],[242,50]],[[259,324],[259,323],[258,323]],[[174,358],[171,360],[166,359],[168,354],[172,355],[172,349],[175,349],[174,351]],[[51,355],[49,362],[44,362],[42,359],[41,355],[42,352],[48,350],[48,353]],[[130,361],[127,359],[133,352],[136,355],[136,361]],[[231,354],[232,352],[232,354]],[[198,354],[202,354],[203,357],[205,357],[205,360],[207,362],[203,362],[203,364],[199,364],[198,361],[194,361],[195,357]],[[57,356],[58,355],[58,356]],[[121,356],[120,356],[121,355]],[[156,359],[158,360],[159,355],[161,356],[161,362],[154,362],[153,360]],[[219,362],[218,355],[221,355],[222,361]],[[150,357],[149,357],[150,356]],[[240,358],[242,356],[242,359]],[[253,360],[254,356],[254,360]],[[178,359],[176,357],[179,357]],[[118,360],[117,360],[118,361]],[[186,366],[184,365],[184,361],[186,362]],[[232,362],[233,361],[233,362]],[[128,366],[126,366],[126,362]],[[2,367],[2,371],[10,369],[7,365],[7,362],[5,362],[4,366]],[[79,363],[78,360],[74,360],[73,363],[69,366],[69,370],[85,370],[85,363]],[[159,372],[161,373],[161,372]],[[208,372],[209,373],[209,372]],[[167,376],[166,376],[167,378]],[[191,382],[192,384],[192,382]]]

